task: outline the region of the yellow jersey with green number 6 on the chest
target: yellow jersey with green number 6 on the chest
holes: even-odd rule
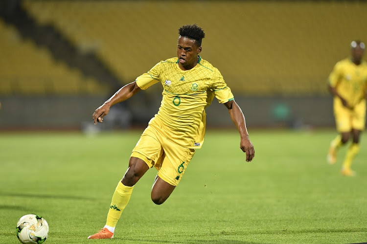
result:
[[[205,109],[214,98],[220,103],[233,100],[219,70],[199,56],[189,70],[178,66],[178,59],[161,61],[136,79],[140,89],[155,83],[163,86],[161,107],[149,122],[170,139],[186,148],[201,148],[206,127]]]

